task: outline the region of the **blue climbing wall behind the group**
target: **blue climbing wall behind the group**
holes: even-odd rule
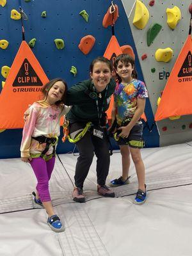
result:
[[[11,19],[17,17],[19,10],[18,0],[1,0],[6,4],[0,5],[0,40],[6,40],[8,47],[0,48],[0,70],[2,67],[11,67],[15,55],[22,42],[21,22]],[[0,2],[0,3],[1,3]],[[120,17],[115,23],[115,36],[120,44],[131,45],[136,54],[136,48],[132,40],[131,29],[127,20],[127,15],[122,5],[122,1],[116,0]],[[102,56],[106,51],[106,47],[111,38],[111,27],[104,28],[102,20],[107,12],[111,1],[107,0],[22,0],[22,8],[28,20],[23,20],[26,42],[29,44],[35,54],[40,65],[44,69],[45,74],[49,79],[54,77],[62,77],[67,81],[68,86],[89,78],[89,65],[93,58]],[[15,14],[14,14],[15,12]],[[79,14],[81,12],[81,15]],[[86,15],[86,13],[88,15]],[[88,19],[87,19],[88,18]],[[83,54],[78,48],[78,45],[86,35],[95,37],[95,44],[88,54]],[[57,39],[63,41],[56,47]],[[63,45],[64,43],[64,45]],[[0,43],[1,44],[1,43]],[[58,45],[57,45],[58,46]],[[64,47],[63,47],[64,46]],[[77,74],[70,72],[72,66],[77,68]],[[139,78],[143,79],[140,63],[136,54],[136,68]],[[5,81],[0,74],[1,82]],[[1,91],[1,89],[0,89]],[[9,97],[9,95],[7,95]],[[9,99],[9,98],[8,98]],[[15,106],[17,108],[17,106]],[[6,109],[4,109],[6,111]],[[145,112],[149,124],[152,124],[154,116],[150,103],[147,102]],[[0,157],[19,157],[20,156],[20,140],[22,137],[21,129],[11,129],[0,133]],[[146,147],[159,146],[159,134],[156,127],[152,132],[149,129],[144,130],[144,138]],[[113,143],[115,147],[115,143]],[[66,153],[74,150],[74,145],[71,143],[58,144],[58,153]]]

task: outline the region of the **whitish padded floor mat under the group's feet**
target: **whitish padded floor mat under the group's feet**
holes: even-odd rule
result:
[[[191,145],[141,151],[148,189],[144,205],[132,204],[137,190],[133,164],[131,183],[115,188],[116,198],[97,195],[96,159],[84,183],[86,203],[73,202],[77,156],[60,155],[50,182],[55,210],[66,227],[60,234],[50,230],[45,210],[35,209],[40,206],[31,196],[36,184],[31,166],[1,159],[0,255],[191,256]],[[108,182],[120,176],[120,161],[120,153],[114,153]]]

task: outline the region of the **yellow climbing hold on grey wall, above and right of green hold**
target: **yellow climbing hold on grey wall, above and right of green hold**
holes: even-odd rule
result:
[[[167,14],[167,24],[170,28],[175,29],[177,24],[179,23],[181,13],[180,9],[177,6],[174,6],[173,8],[167,8],[166,9]]]

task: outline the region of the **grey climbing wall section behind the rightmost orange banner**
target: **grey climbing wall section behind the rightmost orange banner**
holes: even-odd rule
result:
[[[132,36],[136,45],[136,51],[138,52],[138,59],[140,61],[145,83],[147,84],[150,103],[155,116],[157,110],[157,100],[159,97],[161,97],[164,86],[166,85],[168,77],[172,72],[175,60],[177,59],[177,56],[179,55],[179,52],[188,36],[189,20],[191,17],[191,14],[189,13],[189,5],[191,4],[191,0],[141,1],[149,13],[149,19],[148,21],[146,20],[146,24],[146,17],[141,20],[141,24],[135,19],[136,1],[122,0],[122,3],[124,4],[125,12],[129,19],[129,25],[131,27]],[[174,8],[174,6],[176,6],[176,10],[174,9],[173,11],[171,9]],[[173,19],[172,17],[171,19],[168,19],[169,21],[173,20],[173,22],[171,22],[172,24],[170,24],[170,26],[173,26],[172,28],[170,28],[167,23],[167,8],[170,9],[168,10],[170,15],[175,15]],[[177,19],[179,18],[178,9],[180,10],[181,17],[177,22]],[[140,11],[140,13],[141,12],[143,12],[145,16],[145,9]],[[156,26],[154,26],[155,24]],[[148,32],[152,26],[154,26],[154,29],[157,31],[157,35],[154,36],[154,38],[152,38],[153,36]],[[147,33],[149,33],[148,35],[152,36],[152,40],[149,38],[148,43]],[[148,46],[148,44],[150,45]],[[172,51],[169,49],[169,51],[165,52],[164,56],[168,58],[168,54],[172,53],[172,58],[168,60],[168,62],[156,61],[156,51],[158,49],[166,49],[168,47]],[[161,54],[157,54],[157,56],[161,57]],[[169,101],[167,104],[169,104]],[[160,145],[170,145],[191,140],[191,122],[191,115],[180,116],[180,118],[177,120],[170,120],[169,118],[166,118],[157,122],[157,127],[160,134]]]

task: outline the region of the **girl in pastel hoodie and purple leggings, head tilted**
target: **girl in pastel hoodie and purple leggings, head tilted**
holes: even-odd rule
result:
[[[49,179],[54,168],[55,150],[60,135],[60,117],[70,107],[65,106],[67,84],[60,78],[52,79],[42,90],[45,98],[34,102],[22,132],[21,160],[30,163],[36,175],[35,202],[43,205],[48,214],[47,223],[55,232],[65,227],[55,214],[49,194]]]

